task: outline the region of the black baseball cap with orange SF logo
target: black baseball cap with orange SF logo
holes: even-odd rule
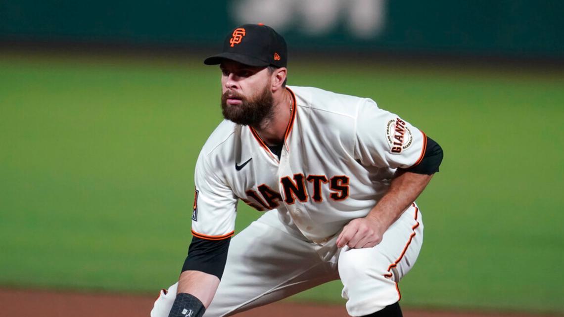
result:
[[[223,41],[222,52],[206,58],[204,64],[221,64],[223,59],[250,66],[286,67],[288,48],[284,38],[268,25],[244,24],[232,29]]]

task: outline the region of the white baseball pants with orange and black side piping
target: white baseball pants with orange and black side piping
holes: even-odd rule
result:
[[[373,248],[324,246],[278,220],[271,210],[233,237],[225,271],[204,317],[230,316],[341,279],[351,316],[372,314],[397,302],[398,281],[415,264],[423,241],[421,213],[413,204]],[[168,317],[178,283],[161,290],[151,317]]]

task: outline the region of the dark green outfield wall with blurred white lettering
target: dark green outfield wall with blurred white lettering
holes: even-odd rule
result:
[[[210,46],[263,22],[290,47],[563,58],[563,14],[554,0],[0,0],[0,41]]]

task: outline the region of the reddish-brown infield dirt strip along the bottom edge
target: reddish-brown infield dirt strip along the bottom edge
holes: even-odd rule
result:
[[[18,317],[140,317],[149,316],[155,301],[151,296],[124,294],[92,294],[50,292],[0,288],[0,316]],[[237,317],[345,317],[345,307],[332,305],[305,305],[274,303],[243,312]],[[483,314],[477,312],[404,310],[406,317],[532,317],[519,314]],[[544,315],[543,317],[549,317]]]

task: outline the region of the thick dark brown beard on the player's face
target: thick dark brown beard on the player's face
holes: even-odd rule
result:
[[[236,93],[230,93],[230,96],[240,99],[241,104],[228,105],[226,92],[221,96],[221,112],[224,118],[236,124],[259,127],[274,115],[274,96],[268,85],[258,96],[250,100]]]

